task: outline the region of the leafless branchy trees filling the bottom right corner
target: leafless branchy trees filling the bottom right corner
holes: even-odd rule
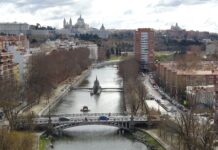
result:
[[[211,120],[192,111],[180,113],[174,119],[163,117],[159,134],[178,150],[213,150],[216,138]]]

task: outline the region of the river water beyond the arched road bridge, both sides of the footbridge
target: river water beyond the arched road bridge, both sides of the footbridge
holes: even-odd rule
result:
[[[82,86],[92,87],[96,76],[102,88],[121,87],[121,79],[117,75],[117,69],[113,67],[94,69],[87,78],[88,82]],[[102,92],[99,96],[91,96],[88,90],[75,90],[64,98],[53,110],[53,114],[81,113],[80,109],[84,105],[88,106],[90,113],[122,112],[122,93]]]

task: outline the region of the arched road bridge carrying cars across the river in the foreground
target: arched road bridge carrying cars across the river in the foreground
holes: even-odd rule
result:
[[[108,125],[120,129],[129,130],[135,125],[146,124],[147,116],[143,115],[123,115],[119,113],[83,113],[52,115],[49,121],[48,116],[34,119],[34,123],[39,127],[47,127],[50,123],[54,129],[63,130],[70,127],[82,125]]]

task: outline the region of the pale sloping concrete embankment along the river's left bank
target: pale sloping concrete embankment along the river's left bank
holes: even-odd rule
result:
[[[61,89],[60,93],[58,93],[57,96],[53,97],[52,100],[50,100],[50,103],[47,104],[43,109],[41,109],[37,114],[38,116],[41,116],[41,115],[46,115],[49,113],[49,110],[52,110],[62,99],[64,96],[66,96],[71,87],[76,87],[76,86],[79,86],[84,79],[86,79],[89,74],[91,72],[91,68],[89,68],[88,70],[85,70],[82,72],[81,75],[77,76],[72,83],[68,83],[68,84],[65,84],[63,86],[63,88]]]

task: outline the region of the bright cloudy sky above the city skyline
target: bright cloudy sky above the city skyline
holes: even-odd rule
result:
[[[62,28],[82,14],[92,27],[168,29],[178,22],[187,30],[218,32],[218,0],[0,0],[0,22],[40,23]]]

